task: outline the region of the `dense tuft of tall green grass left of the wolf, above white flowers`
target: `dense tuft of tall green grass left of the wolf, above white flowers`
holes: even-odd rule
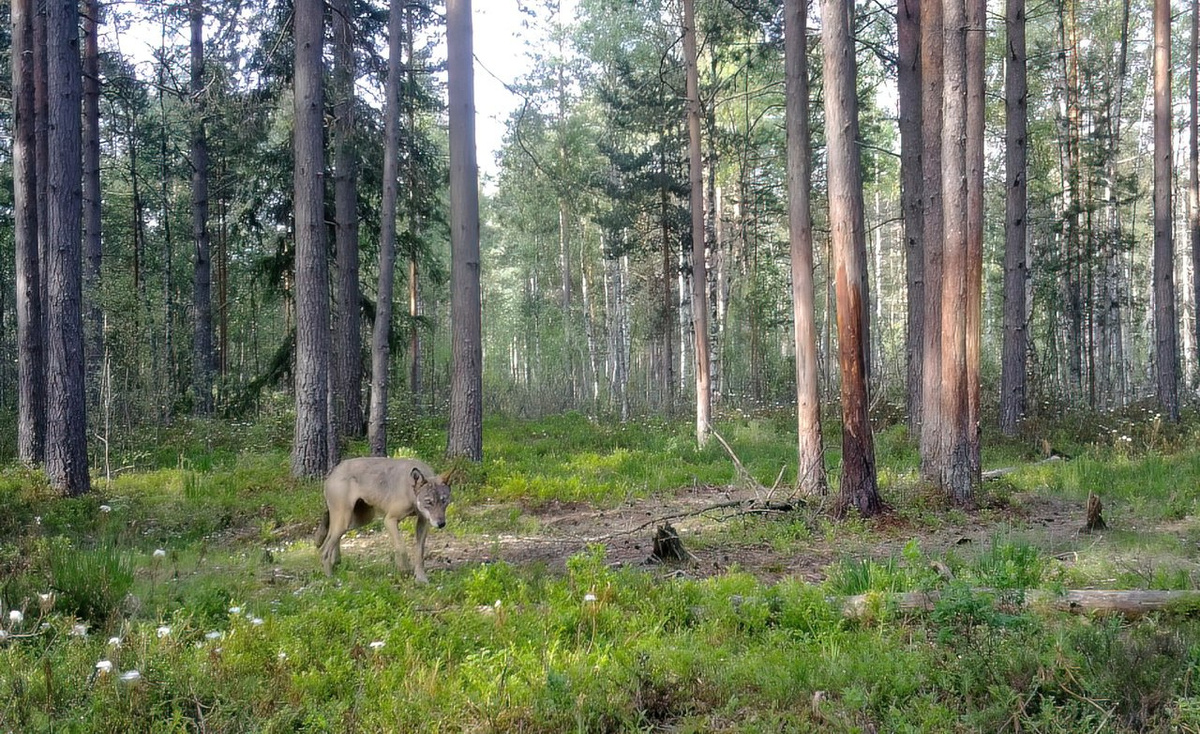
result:
[[[133,562],[115,546],[85,550],[61,545],[50,550],[50,577],[59,609],[101,622],[133,585]]]

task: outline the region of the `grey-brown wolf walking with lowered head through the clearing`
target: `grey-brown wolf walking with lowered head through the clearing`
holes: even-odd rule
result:
[[[412,458],[362,457],[346,459],[325,477],[325,516],[317,528],[317,546],[326,574],[341,560],[342,535],[350,528],[370,523],[376,512],[383,515],[392,546],[396,567],[407,571],[408,558],[400,540],[400,521],[416,516],[416,559],[414,576],[420,584],[425,576],[425,536],[430,525],[444,528],[450,486],[425,462]]]

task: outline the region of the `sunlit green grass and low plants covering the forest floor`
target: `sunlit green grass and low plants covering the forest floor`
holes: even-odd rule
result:
[[[1116,437],[1108,425],[1091,435],[1079,421],[1046,427],[1078,457],[1063,463],[1030,463],[1032,441],[994,441],[989,465],[1025,465],[994,509],[974,513],[924,501],[911,443],[884,429],[892,524],[816,512],[738,519],[695,547],[754,546],[778,554],[779,570],[707,578],[614,567],[601,547],[563,568],[460,562],[428,586],[395,576],[386,554],[355,554],[325,578],[307,539],[319,486],[289,479],[278,422],[131,439],[154,449],[116,457],[130,469],[78,499],[10,468],[0,473],[0,729],[1200,730],[1196,620],[1034,615],[976,591],[1196,588],[1195,426],[1121,439],[1135,423]],[[787,416],[718,429],[761,483],[794,463]],[[400,450],[436,463],[443,441],[436,426],[415,425]],[[485,450],[451,506],[467,541],[534,533],[526,510],[539,505],[613,507],[733,481],[724,451],[696,450],[683,421],[490,421]],[[1088,491],[1102,493],[1110,533],[1028,522]],[[982,540],[950,542],[980,524]],[[834,559],[824,582],[784,572],[817,552]],[[832,601],[929,588],[942,591],[937,608],[913,618],[884,608],[852,622]],[[112,670],[97,672],[101,661]],[[122,681],[131,670],[139,679]]]

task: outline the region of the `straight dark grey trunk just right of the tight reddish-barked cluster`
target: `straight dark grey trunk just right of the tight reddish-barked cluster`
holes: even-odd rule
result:
[[[1015,435],[1025,415],[1028,323],[1026,279],[1026,139],[1028,80],[1025,56],[1025,0],[1007,0],[1004,64],[1004,337],[1000,378],[1000,429]]]

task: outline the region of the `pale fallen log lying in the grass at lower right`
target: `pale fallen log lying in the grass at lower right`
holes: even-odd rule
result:
[[[1033,612],[1066,612],[1069,614],[1094,614],[1098,616],[1124,616],[1136,619],[1151,612],[1177,614],[1200,613],[1200,590],[1152,591],[1145,589],[1074,589],[1049,591],[1030,589],[1021,591],[997,591],[974,589],[974,594],[992,596],[992,603],[1004,607],[1025,607]],[[848,596],[841,601],[841,613],[847,619],[871,619],[883,612],[925,613],[932,612],[942,598],[941,591],[907,591],[888,594],[872,591]]]

